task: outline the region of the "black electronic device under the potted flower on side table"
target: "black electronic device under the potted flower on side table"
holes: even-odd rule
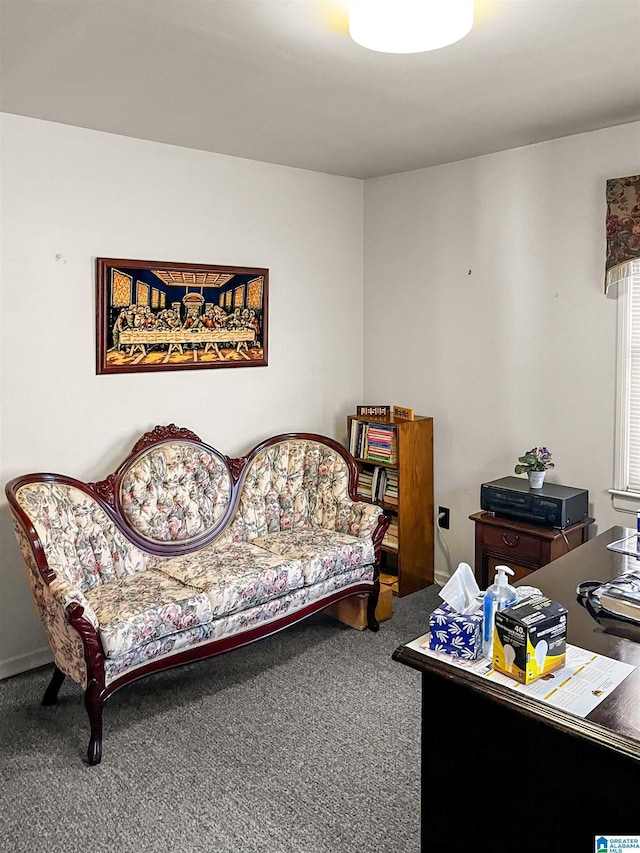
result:
[[[589,513],[589,492],[545,483],[531,489],[523,477],[503,477],[483,483],[480,506],[486,512],[540,524],[544,527],[568,527]]]

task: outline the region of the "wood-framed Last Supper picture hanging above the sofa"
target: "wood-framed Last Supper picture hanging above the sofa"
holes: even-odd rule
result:
[[[268,364],[269,270],[97,259],[96,372]]]

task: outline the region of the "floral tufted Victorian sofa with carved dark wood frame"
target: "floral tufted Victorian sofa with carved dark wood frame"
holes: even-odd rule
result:
[[[151,672],[251,643],[353,595],[376,631],[388,519],[355,498],[357,470],[330,438],[289,433],[230,459],[173,424],[146,433],[114,474],[7,484],[55,668],[85,691],[90,764],[102,709]]]

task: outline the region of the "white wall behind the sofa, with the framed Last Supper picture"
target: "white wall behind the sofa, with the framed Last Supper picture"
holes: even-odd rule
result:
[[[228,455],[343,438],[362,397],[362,182],[1,117],[0,470],[101,479],[158,423]],[[269,366],[95,374],[95,258],[267,267]],[[48,659],[0,505],[0,677]]]

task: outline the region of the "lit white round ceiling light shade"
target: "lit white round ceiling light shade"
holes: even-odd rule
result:
[[[351,38],[383,53],[453,44],[473,26],[473,0],[349,0]]]

